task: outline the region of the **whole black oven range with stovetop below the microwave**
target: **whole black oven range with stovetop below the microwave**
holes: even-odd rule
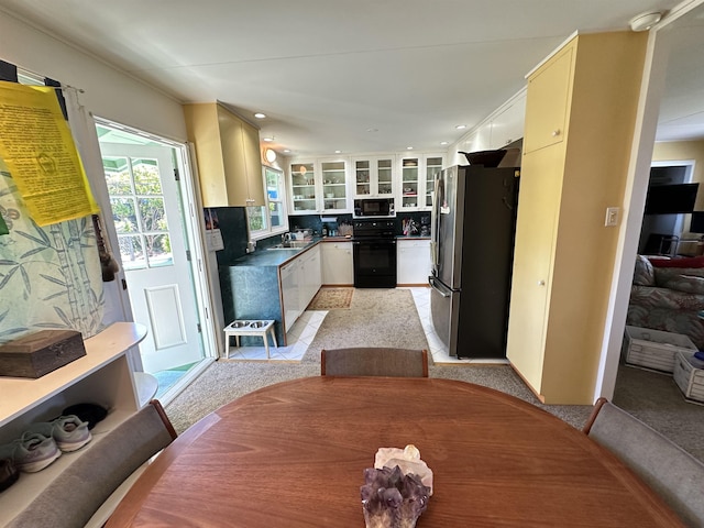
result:
[[[393,220],[355,220],[353,223],[354,286],[396,287],[396,232]]]

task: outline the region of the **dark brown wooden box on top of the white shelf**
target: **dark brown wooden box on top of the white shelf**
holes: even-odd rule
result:
[[[0,345],[0,376],[42,377],[84,355],[80,332],[41,330]]]

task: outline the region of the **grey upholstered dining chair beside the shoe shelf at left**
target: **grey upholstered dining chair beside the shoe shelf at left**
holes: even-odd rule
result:
[[[102,526],[129,488],[117,497],[113,493],[176,436],[156,399],[114,429],[103,435],[94,431],[94,439],[82,448],[86,451],[80,458],[67,465],[8,527]],[[106,503],[110,503],[108,508],[103,507]],[[95,516],[99,510],[105,518],[98,520]]]

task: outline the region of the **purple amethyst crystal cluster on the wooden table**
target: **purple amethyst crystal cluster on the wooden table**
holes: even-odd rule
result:
[[[364,470],[360,493],[366,528],[414,528],[428,507],[430,488],[396,465]]]

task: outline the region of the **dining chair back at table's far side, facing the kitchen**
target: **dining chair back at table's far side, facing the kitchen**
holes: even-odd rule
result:
[[[428,351],[389,348],[330,349],[320,352],[323,376],[428,377]]]

